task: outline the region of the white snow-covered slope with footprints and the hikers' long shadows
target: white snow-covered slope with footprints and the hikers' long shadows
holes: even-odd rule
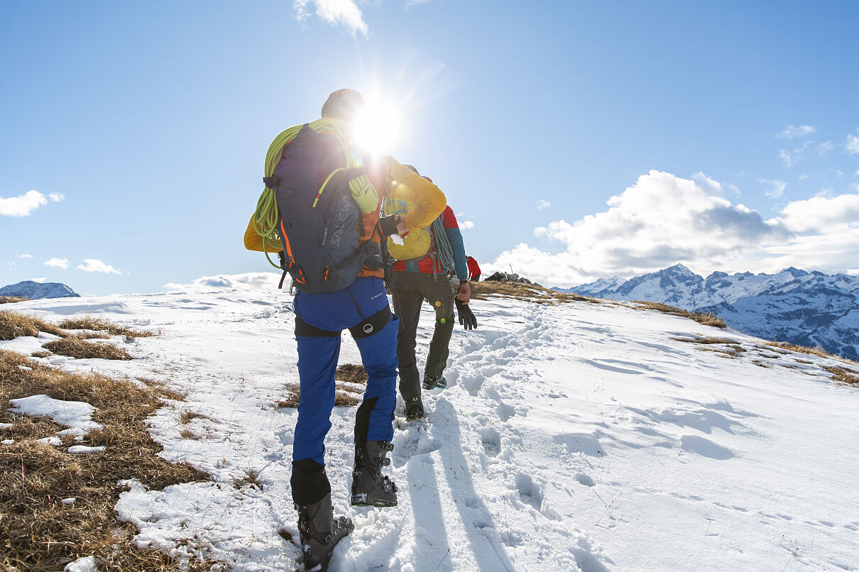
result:
[[[298,380],[290,300],[228,291],[15,306],[161,330],[126,344],[132,362],[46,359],[186,393],[151,432],[163,456],[214,482],[126,492],[117,510],[140,527],[141,545],[201,551],[236,570],[296,566],[299,549],[277,533],[297,538],[296,412],[273,406]],[[348,505],[355,409],[332,415],[335,513],[356,523],[333,571],[859,569],[859,390],[821,368],[843,362],[611,303],[473,308],[479,329],[454,332],[450,386],[425,396],[428,422],[396,411],[398,507]],[[673,339],[712,335],[746,351],[731,359],[698,350],[724,346]],[[340,362],[360,362],[348,333],[343,340]],[[0,348],[29,353],[43,341]],[[208,418],[182,425],[186,410]],[[248,471],[261,490],[235,488]]]

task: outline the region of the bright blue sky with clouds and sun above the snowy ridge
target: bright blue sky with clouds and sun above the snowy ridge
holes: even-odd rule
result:
[[[397,112],[385,150],[447,194],[484,271],[859,274],[857,21],[855,2],[2,3],[0,285],[270,270],[241,242],[265,150],[343,87]]]

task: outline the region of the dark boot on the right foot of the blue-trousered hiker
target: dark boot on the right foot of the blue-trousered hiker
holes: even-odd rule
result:
[[[352,506],[397,506],[397,485],[381,474],[381,468],[391,464],[391,459],[387,458],[388,451],[393,451],[393,445],[387,441],[355,443]]]

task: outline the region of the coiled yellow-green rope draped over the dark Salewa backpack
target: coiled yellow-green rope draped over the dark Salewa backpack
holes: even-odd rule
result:
[[[363,157],[354,149],[346,124],[340,119],[322,118],[317,119],[310,124],[310,129],[317,133],[328,133],[335,137],[340,143],[340,148],[343,149],[346,168],[363,167]],[[302,125],[295,125],[289,129],[281,131],[274,138],[269,146],[268,153],[265,154],[265,177],[274,175],[277,163],[280,162],[283,155],[283,147],[290,143],[302,131]],[[329,177],[330,179],[330,177]],[[327,182],[327,180],[326,180]],[[370,183],[367,175],[362,175],[356,179],[349,181],[349,190],[352,198],[358,204],[358,208],[363,213],[369,213],[376,210],[379,205],[379,196],[375,187]],[[315,204],[314,204],[315,205]],[[280,268],[271,262],[268,257],[269,248],[272,252],[283,250],[283,244],[277,238],[277,222],[280,219],[280,213],[277,210],[277,198],[273,189],[266,186],[262,194],[259,195],[257,201],[257,210],[253,214],[253,229],[263,239],[263,253],[269,264],[275,268]]]

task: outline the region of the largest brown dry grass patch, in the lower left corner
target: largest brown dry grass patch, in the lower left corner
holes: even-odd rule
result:
[[[57,423],[13,415],[9,399],[44,393],[54,399],[84,401],[95,407],[93,430],[83,444],[104,446],[101,453],[70,454],[64,446],[36,442],[56,433]],[[186,569],[201,572],[211,563],[196,558],[180,563],[161,551],[138,550],[135,528],[119,522],[113,510],[125,490],[118,481],[136,478],[150,489],[209,480],[186,464],[170,464],[158,453],[146,419],[167,397],[157,388],[106,375],[68,374],[14,352],[0,350],[0,429],[15,442],[0,447],[0,569],[16,572],[61,570],[78,557],[96,557],[99,569],[143,572]],[[64,441],[68,444],[69,439]],[[72,504],[62,500],[75,497]]]

